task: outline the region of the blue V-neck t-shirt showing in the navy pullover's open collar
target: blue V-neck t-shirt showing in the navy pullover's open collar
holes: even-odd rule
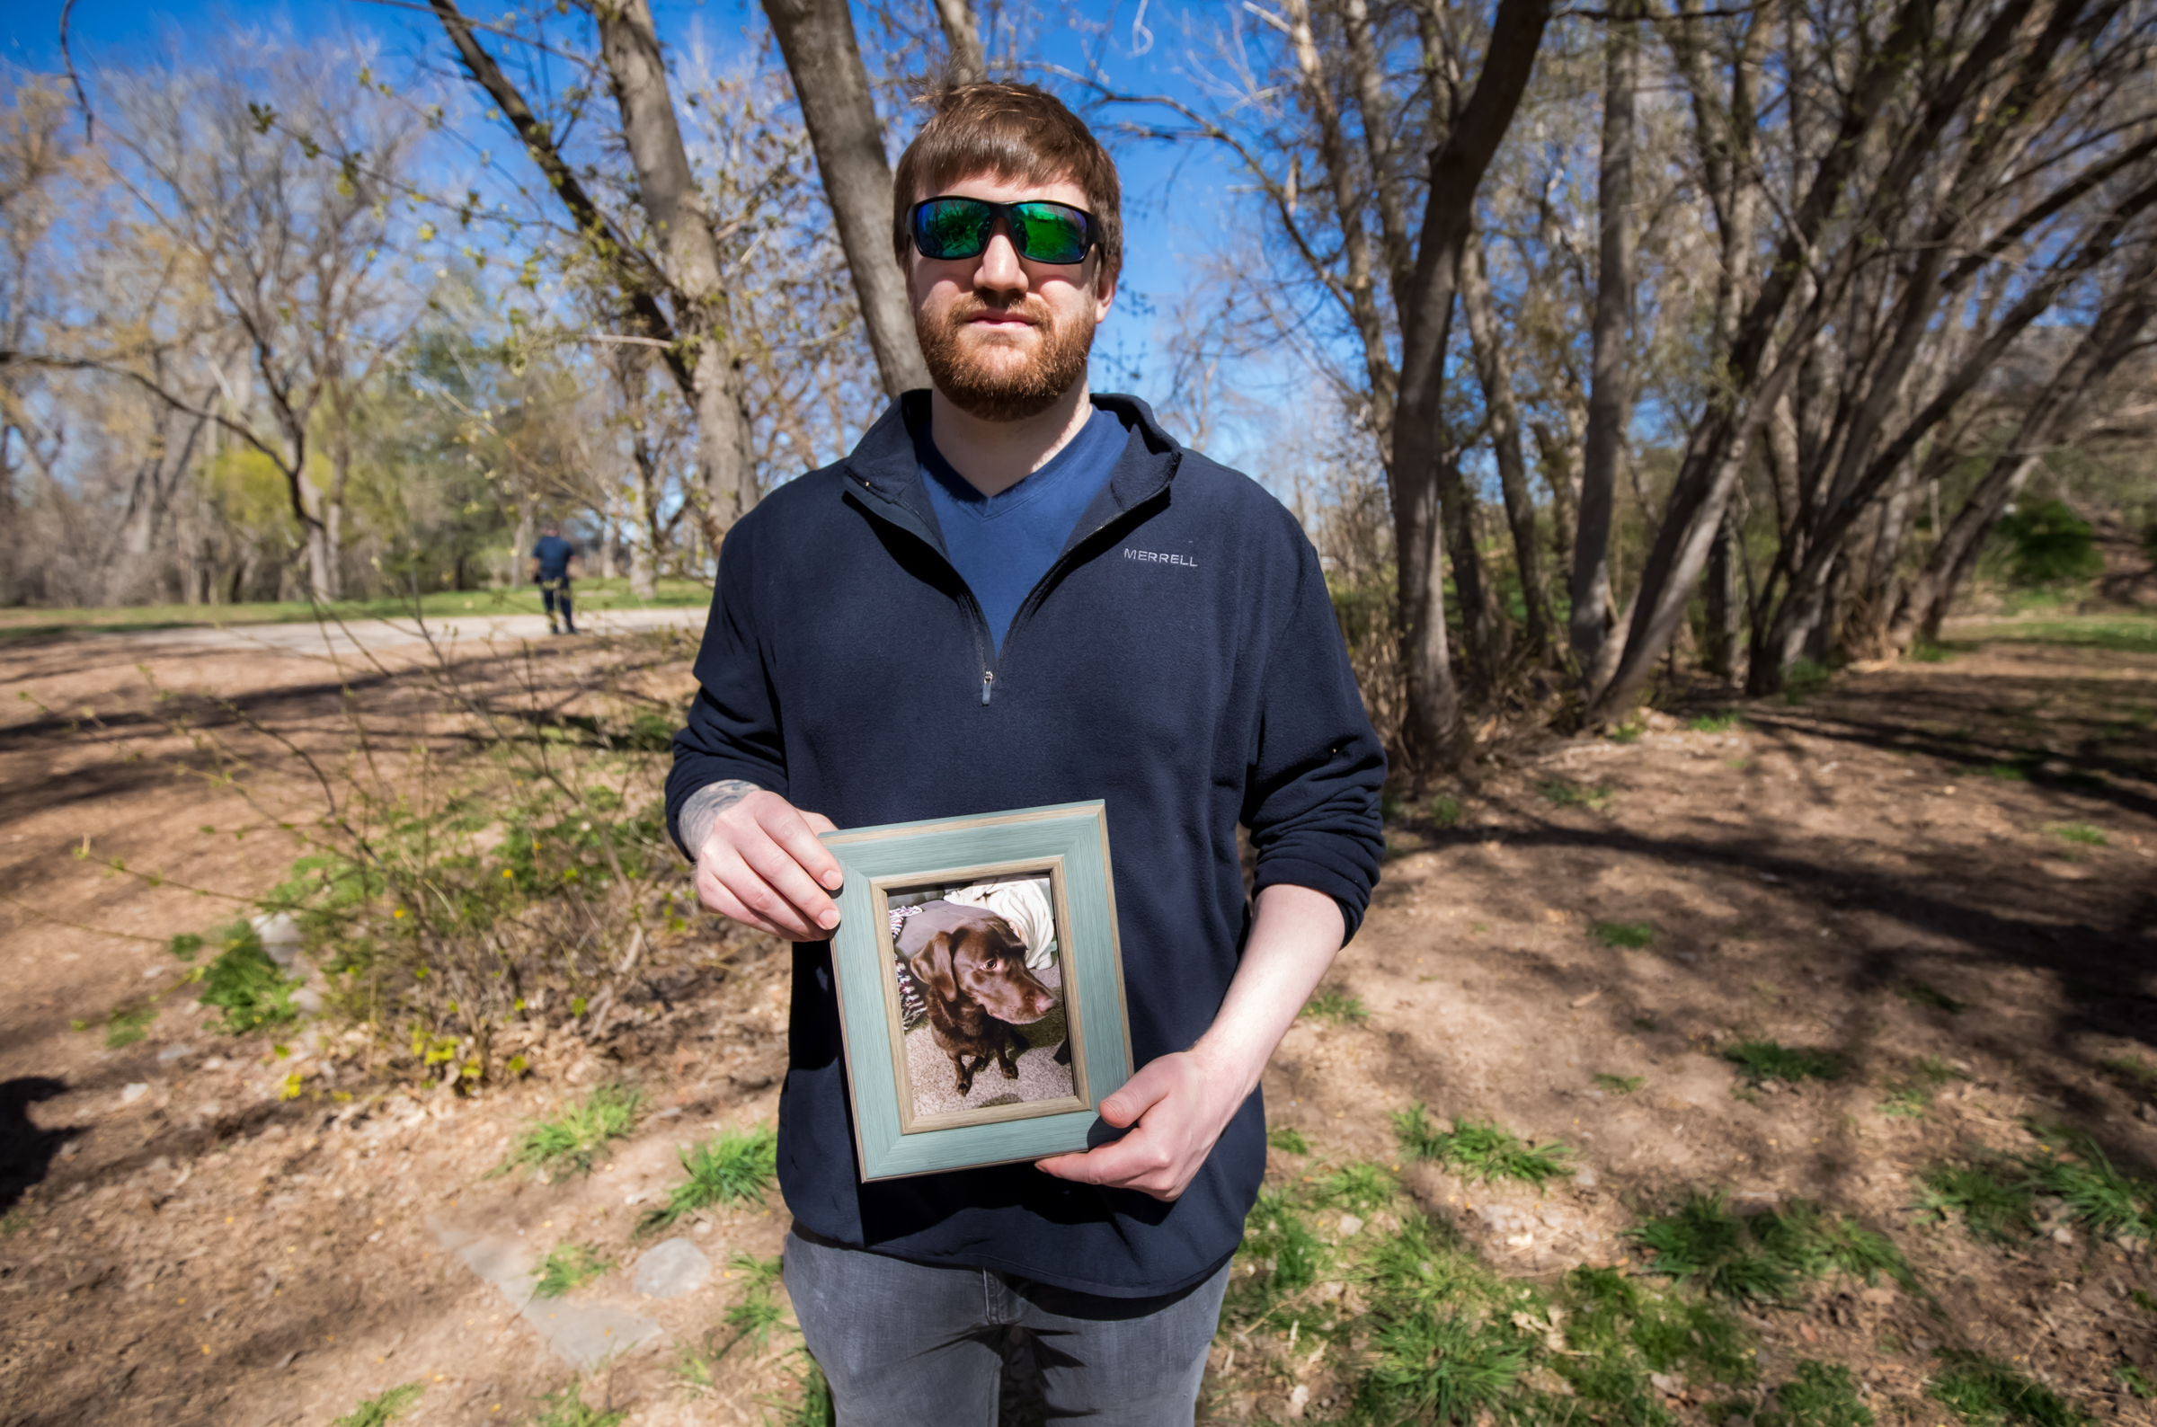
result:
[[[1009,489],[984,496],[943,459],[928,429],[915,438],[921,483],[936,507],[951,567],[981,604],[997,653],[1003,653],[1018,606],[1063,554],[1100,487],[1109,485],[1128,440],[1124,422],[1096,407],[1046,466]]]

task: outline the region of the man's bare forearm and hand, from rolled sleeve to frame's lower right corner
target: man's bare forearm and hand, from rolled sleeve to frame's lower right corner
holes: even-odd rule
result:
[[[1214,1024],[1191,1050],[1150,1061],[1100,1102],[1100,1117],[1137,1130],[1083,1155],[1035,1160],[1057,1179],[1176,1199],[1206,1164],[1342,946],[1342,912],[1324,892],[1268,886]]]

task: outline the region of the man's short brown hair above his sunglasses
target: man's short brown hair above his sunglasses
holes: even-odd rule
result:
[[[1124,190],[1115,160],[1063,101],[1033,84],[958,84],[899,155],[891,185],[891,248],[906,265],[908,211],[947,183],[994,175],[1005,183],[1076,183],[1100,235],[1100,274],[1124,267]]]

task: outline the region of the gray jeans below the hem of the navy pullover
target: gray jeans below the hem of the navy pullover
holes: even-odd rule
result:
[[[1048,1423],[1191,1427],[1227,1270],[1165,1298],[1096,1298],[800,1231],[785,1250],[794,1317],[839,1427],[997,1427],[1014,1352],[1040,1377],[1033,1412]]]

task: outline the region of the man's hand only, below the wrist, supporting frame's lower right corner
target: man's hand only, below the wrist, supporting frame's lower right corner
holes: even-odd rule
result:
[[[1247,1093],[1242,1078],[1208,1065],[1204,1050],[1160,1056],[1100,1102],[1104,1121],[1117,1130],[1137,1121],[1137,1130],[1113,1145],[1038,1160],[1035,1166],[1057,1179],[1107,1183],[1173,1201],[1206,1164]]]

